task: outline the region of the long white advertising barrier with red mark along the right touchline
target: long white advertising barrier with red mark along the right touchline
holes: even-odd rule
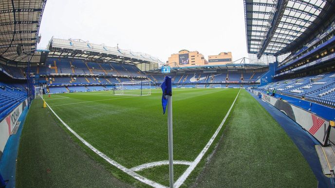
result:
[[[256,90],[251,91],[257,96],[261,95],[261,98],[264,101],[275,106],[286,116],[296,121],[302,128],[304,128],[306,131],[308,131],[308,133],[310,133],[313,137],[315,137],[321,143],[322,146],[325,146],[328,143],[328,138],[331,131],[329,120],[320,118],[313,112],[299,108],[296,105],[279,100],[275,97],[271,97],[259,91]]]

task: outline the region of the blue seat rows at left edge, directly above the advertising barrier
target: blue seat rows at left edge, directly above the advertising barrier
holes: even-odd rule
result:
[[[4,90],[5,89],[5,90]],[[27,93],[7,89],[3,86],[0,88],[0,120],[8,115],[14,108],[27,98]]]

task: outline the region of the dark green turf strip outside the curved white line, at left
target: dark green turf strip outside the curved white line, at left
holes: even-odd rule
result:
[[[130,187],[90,158],[42,104],[41,100],[32,103],[23,126],[16,187]]]

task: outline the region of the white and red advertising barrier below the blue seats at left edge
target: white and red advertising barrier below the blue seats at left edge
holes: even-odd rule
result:
[[[28,100],[20,103],[8,116],[6,116],[0,122],[0,158],[3,153],[3,149],[7,143],[9,136],[14,134],[17,130],[18,120],[22,114],[24,108],[28,105]]]

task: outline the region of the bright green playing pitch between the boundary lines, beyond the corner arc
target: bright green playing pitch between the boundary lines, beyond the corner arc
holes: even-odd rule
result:
[[[221,123],[238,91],[174,90],[174,160],[195,159]],[[69,98],[59,99],[59,96]],[[56,98],[52,95],[45,99],[75,132],[127,168],[168,160],[167,115],[162,114],[160,90],[142,97],[114,96],[109,91],[57,94]],[[168,173],[164,169],[157,171],[158,175],[152,180],[164,181],[164,174]],[[179,170],[175,172],[181,174]]]

